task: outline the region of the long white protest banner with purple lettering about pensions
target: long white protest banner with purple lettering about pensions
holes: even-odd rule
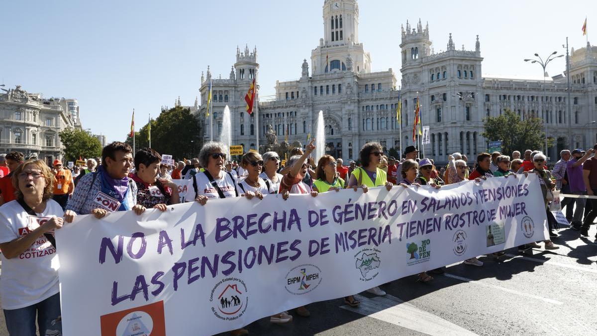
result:
[[[56,231],[63,332],[217,334],[545,239],[534,174],[78,216]]]

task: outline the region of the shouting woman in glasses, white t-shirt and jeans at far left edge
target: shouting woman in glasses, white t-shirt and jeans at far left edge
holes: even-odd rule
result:
[[[59,333],[59,262],[53,234],[65,220],[72,222],[75,213],[64,212],[51,199],[54,174],[43,161],[25,161],[12,180],[17,199],[0,207],[0,295],[8,333],[36,335],[36,317],[40,335]]]

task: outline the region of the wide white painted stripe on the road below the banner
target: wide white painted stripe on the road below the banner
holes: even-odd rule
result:
[[[355,298],[361,301],[361,306],[353,308],[344,305],[340,308],[432,336],[476,335],[392,295],[374,298],[355,295]]]

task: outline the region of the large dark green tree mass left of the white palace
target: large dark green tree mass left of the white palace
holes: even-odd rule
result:
[[[125,141],[133,146],[133,138]],[[159,154],[172,155],[176,160],[196,157],[201,148],[201,127],[190,109],[176,106],[162,111],[151,123],[151,145]],[[147,124],[135,132],[136,149],[148,147]]]

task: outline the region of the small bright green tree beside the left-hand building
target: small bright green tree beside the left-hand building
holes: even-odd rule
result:
[[[79,157],[90,158],[101,155],[101,143],[88,130],[66,128],[59,133],[64,145],[64,160],[75,161]]]

